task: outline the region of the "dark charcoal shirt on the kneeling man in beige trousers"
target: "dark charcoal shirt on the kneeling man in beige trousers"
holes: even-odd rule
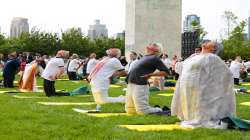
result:
[[[147,85],[147,79],[142,76],[153,73],[157,69],[169,73],[168,68],[163,64],[159,57],[155,55],[146,55],[138,60],[130,70],[128,82],[137,85]]]

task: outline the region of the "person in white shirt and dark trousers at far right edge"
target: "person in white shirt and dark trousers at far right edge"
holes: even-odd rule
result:
[[[237,56],[234,61],[231,62],[230,70],[234,76],[234,84],[240,85],[240,71],[244,66],[240,63],[241,57]]]

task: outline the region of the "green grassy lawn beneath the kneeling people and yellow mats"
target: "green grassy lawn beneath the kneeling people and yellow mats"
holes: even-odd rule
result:
[[[42,85],[42,80],[38,81]],[[83,84],[80,82],[57,81],[56,87],[60,90],[71,91]],[[250,89],[250,86],[247,86]],[[40,87],[42,89],[42,87]],[[7,89],[1,88],[0,91]],[[112,87],[111,96],[124,94],[122,87]],[[164,93],[153,93],[150,96],[150,104],[171,104],[170,96],[173,90]],[[18,99],[18,96],[41,96],[43,93],[0,93],[0,139],[86,139],[86,140],[249,140],[250,133],[232,130],[193,129],[193,130],[164,130],[164,131],[136,131],[121,128],[119,125],[168,125],[175,124],[179,120],[176,117],[166,116],[89,116],[74,112],[72,108],[95,109],[95,105],[78,106],[45,106],[37,102],[93,102],[89,95],[72,97],[31,98]],[[237,115],[242,119],[250,120],[250,106],[240,105],[242,102],[250,102],[250,94],[237,95]],[[102,113],[124,113],[124,104],[103,105]]]

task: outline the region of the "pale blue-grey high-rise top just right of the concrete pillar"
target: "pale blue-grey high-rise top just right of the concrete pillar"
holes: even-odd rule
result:
[[[196,22],[197,25],[193,26],[193,23]],[[184,21],[184,32],[192,32],[195,29],[200,27],[200,17],[197,15],[187,15]]]

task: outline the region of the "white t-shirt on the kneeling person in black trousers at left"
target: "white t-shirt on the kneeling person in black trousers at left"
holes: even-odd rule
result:
[[[64,61],[62,58],[52,58],[46,65],[42,77],[46,80],[54,81],[50,79],[50,76],[55,77],[60,72],[60,69],[63,67]]]

